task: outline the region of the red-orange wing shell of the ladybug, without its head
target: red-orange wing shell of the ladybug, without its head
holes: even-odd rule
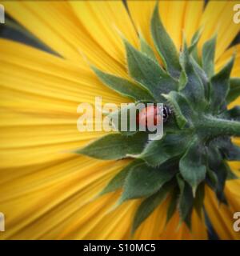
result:
[[[137,116],[137,123],[140,126],[157,126],[160,122],[162,122],[162,117],[157,106],[146,106]]]

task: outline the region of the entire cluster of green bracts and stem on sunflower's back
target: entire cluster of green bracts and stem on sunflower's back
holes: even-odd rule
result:
[[[173,114],[164,124],[164,136],[148,141],[147,132],[122,132],[78,150],[79,154],[104,160],[136,158],[101,193],[122,188],[119,203],[143,198],[135,214],[133,231],[167,196],[167,221],[179,210],[182,221],[190,227],[194,208],[202,216],[205,185],[215,191],[219,202],[226,203],[226,179],[236,178],[226,161],[240,160],[240,148],[230,140],[240,136],[240,106],[226,108],[240,95],[240,79],[230,78],[234,57],[216,74],[216,37],[203,45],[199,58],[196,47],[200,30],[190,46],[182,42],[178,54],[158,16],[158,4],[150,31],[163,66],[140,35],[140,50],[123,39],[127,68],[134,82],[93,69],[106,86],[135,102],[161,102],[169,106]]]

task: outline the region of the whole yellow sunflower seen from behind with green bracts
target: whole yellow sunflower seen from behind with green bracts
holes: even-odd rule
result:
[[[1,238],[240,238],[236,2],[2,4],[51,53],[0,39]],[[163,138],[79,133],[98,95],[164,102]]]

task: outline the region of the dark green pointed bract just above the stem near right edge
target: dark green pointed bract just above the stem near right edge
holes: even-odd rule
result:
[[[210,81],[210,104],[214,112],[218,112],[222,104],[226,102],[226,95],[230,87],[230,72],[234,65],[234,57],[226,64]]]

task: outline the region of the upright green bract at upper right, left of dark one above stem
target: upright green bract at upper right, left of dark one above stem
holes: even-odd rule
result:
[[[202,68],[206,72],[208,78],[214,75],[214,56],[217,37],[214,36],[206,41],[202,46]]]

